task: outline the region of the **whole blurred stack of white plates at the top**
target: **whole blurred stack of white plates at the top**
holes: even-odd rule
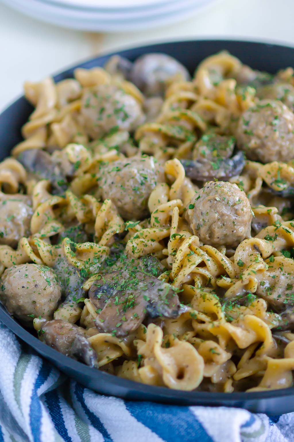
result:
[[[133,31],[175,23],[216,0],[0,0],[30,17],[84,31]]]

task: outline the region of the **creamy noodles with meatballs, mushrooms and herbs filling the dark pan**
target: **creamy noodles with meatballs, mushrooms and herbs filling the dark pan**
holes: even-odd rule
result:
[[[193,78],[178,63],[140,84],[121,64],[25,83],[35,109],[0,163],[1,301],[48,345],[133,381],[290,387],[293,69],[221,52]]]

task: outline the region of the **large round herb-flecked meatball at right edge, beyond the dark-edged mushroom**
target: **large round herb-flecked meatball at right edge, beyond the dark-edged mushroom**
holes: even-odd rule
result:
[[[238,148],[250,160],[269,163],[294,158],[294,114],[278,100],[261,100],[246,110],[237,128]]]

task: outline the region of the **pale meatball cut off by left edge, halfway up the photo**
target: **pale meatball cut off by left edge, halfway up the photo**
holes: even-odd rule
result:
[[[31,200],[22,194],[2,195],[0,198],[0,244],[17,247],[22,236],[30,235],[33,209]]]

